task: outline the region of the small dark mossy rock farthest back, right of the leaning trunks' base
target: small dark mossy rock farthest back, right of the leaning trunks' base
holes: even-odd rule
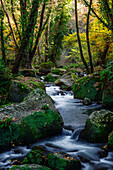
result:
[[[39,75],[46,75],[50,73],[52,67],[54,67],[54,63],[51,61],[40,64]]]

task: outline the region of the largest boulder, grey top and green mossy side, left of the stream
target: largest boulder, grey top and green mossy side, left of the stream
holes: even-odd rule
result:
[[[62,117],[42,89],[33,90],[19,104],[0,108],[0,112],[0,148],[30,144],[62,131]]]

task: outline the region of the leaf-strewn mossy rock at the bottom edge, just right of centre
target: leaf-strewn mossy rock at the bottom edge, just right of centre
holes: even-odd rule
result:
[[[48,167],[55,170],[79,170],[81,163],[66,153],[49,153],[47,156]]]

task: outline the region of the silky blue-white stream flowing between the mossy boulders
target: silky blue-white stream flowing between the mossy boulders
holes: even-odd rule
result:
[[[66,152],[81,160],[81,170],[113,170],[113,152],[104,154],[102,147],[105,143],[93,144],[79,140],[80,131],[88,118],[87,113],[101,109],[101,105],[93,102],[89,106],[81,100],[74,99],[71,91],[63,91],[58,86],[46,85],[46,92],[52,97],[60,112],[64,128],[61,135],[44,139],[31,146],[16,146],[9,151],[0,153],[0,169],[11,168],[16,160],[24,158],[35,145],[43,145],[50,152]],[[76,170],[76,169],[75,169]]]

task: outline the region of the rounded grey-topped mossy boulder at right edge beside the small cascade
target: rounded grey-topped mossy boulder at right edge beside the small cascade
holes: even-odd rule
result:
[[[113,130],[113,112],[109,110],[94,111],[86,121],[80,138],[89,142],[106,142]]]

